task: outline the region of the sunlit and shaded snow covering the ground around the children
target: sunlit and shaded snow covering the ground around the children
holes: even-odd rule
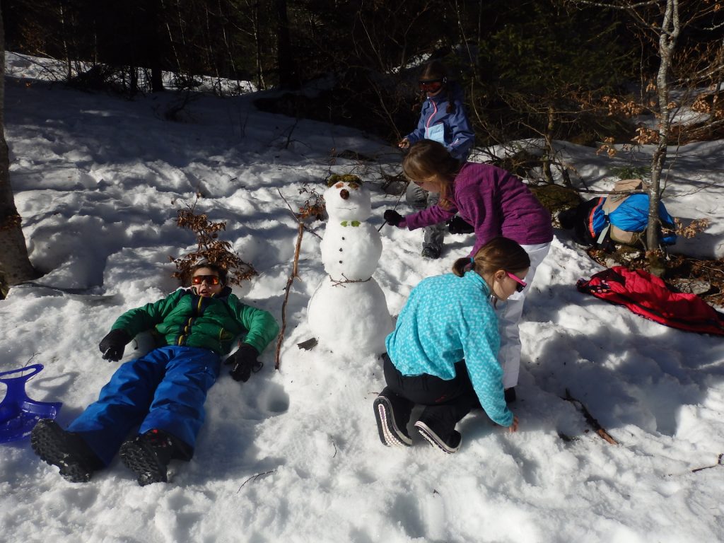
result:
[[[361,132],[265,114],[253,94],[202,97],[169,122],[172,94],[127,101],[35,80],[8,54],[5,130],[15,203],[44,287],[0,301],[0,371],[42,363],[35,400],[62,401],[69,423],[117,363],[98,341],[128,308],[177,287],[176,258],[195,247],[174,224],[193,204],[226,221],[259,274],[237,292],[282,319],[303,205],[332,172],[369,182],[371,221],[397,196],[380,189],[379,165],[332,159],[332,150],[397,151]],[[610,188],[627,164],[562,144],[589,186]],[[671,214],[712,224],[674,251],[724,255],[721,141],[680,149],[665,196]],[[281,196],[280,196],[281,193]],[[408,209],[404,201],[398,209]],[[324,222],[312,225],[319,235]],[[384,227],[374,277],[390,313],[421,279],[448,271],[472,245],[447,237],[438,261],[420,256],[421,233]],[[118,461],[88,484],[70,484],[35,457],[28,439],[0,444],[1,539],[17,542],[719,542],[724,539],[724,341],[662,327],[576,291],[601,268],[555,232],[521,324],[520,430],[481,411],[443,455],[421,438],[382,446],[372,402],[384,387],[374,355],[345,358],[309,339],[308,300],[323,277],[319,237],[303,237],[299,279],[287,305],[281,367],[274,346],[245,384],[225,371],[209,394],[190,463],[169,484],[139,487]],[[132,348],[126,349],[128,359]],[[1,385],[0,385],[1,386]],[[581,400],[618,441],[586,423]],[[0,390],[0,395],[3,393]]]

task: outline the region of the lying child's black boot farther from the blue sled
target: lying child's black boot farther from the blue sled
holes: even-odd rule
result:
[[[167,466],[177,456],[179,444],[172,434],[154,428],[124,442],[119,455],[124,465],[138,476],[138,484],[144,487],[168,481]]]

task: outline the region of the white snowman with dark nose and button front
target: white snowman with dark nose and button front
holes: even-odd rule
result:
[[[340,180],[324,192],[324,203],[329,221],[319,247],[328,276],[309,300],[309,327],[334,353],[384,353],[393,327],[384,292],[372,277],[382,240],[366,222],[372,214],[369,192],[359,182]]]

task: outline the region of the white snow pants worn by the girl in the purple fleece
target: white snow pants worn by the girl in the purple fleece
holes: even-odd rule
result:
[[[513,292],[507,301],[497,306],[498,332],[500,333],[500,352],[498,361],[502,366],[503,388],[515,387],[518,384],[518,374],[521,371],[521,334],[518,332],[518,321],[523,313],[523,302],[526,294],[531,290],[536,268],[550,251],[550,243],[538,245],[521,245],[531,259],[531,267],[523,279],[527,286],[522,292]]]

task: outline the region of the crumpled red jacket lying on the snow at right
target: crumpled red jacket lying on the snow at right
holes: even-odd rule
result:
[[[648,271],[632,271],[614,266],[599,271],[590,280],[578,279],[576,287],[596,298],[618,306],[665,326],[724,335],[724,315],[695,294],[672,292],[660,278]]]

